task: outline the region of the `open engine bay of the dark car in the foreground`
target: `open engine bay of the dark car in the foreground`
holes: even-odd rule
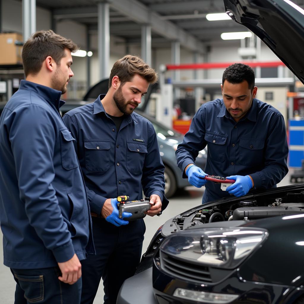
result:
[[[220,199],[198,206],[167,221],[162,228],[162,234],[169,235],[206,223],[248,221],[304,212],[303,188],[289,191],[280,190],[280,188],[275,188],[242,198]]]

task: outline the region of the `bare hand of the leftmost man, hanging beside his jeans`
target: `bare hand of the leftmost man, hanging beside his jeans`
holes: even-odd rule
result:
[[[61,277],[58,277],[61,282],[72,285],[81,278],[81,264],[76,254],[70,260],[58,263],[58,266],[62,274]]]

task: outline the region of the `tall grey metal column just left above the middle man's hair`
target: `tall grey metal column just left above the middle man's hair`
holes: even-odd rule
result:
[[[110,17],[109,3],[98,3],[98,61],[100,80],[109,78]]]

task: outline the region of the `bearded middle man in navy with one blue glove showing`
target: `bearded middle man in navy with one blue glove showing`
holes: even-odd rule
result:
[[[75,148],[85,178],[93,222],[96,256],[82,264],[81,303],[93,303],[100,279],[104,303],[116,304],[121,285],[140,262],[145,233],[143,219],[119,219],[117,199],[128,195],[153,205],[147,214],[164,210],[164,165],[152,123],[133,110],[157,80],[139,57],[126,55],[114,64],[109,91],[94,103],[73,109],[63,120],[76,139]],[[101,300],[99,300],[101,302]]]

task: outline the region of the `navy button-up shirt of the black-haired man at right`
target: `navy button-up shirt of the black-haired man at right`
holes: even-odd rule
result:
[[[254,189],[275,187],[288,172],[288,145],[282,114],[254,98],[246,116],[237,123],[223,99],[202,105],[192,119],[189,131],[178,145],[176,158],[183,178],[185,168],[194,163],[207,145],[204,172],[209,175],[250,175]],[[229,196],[219,184],[208,181],[203,203]]]

